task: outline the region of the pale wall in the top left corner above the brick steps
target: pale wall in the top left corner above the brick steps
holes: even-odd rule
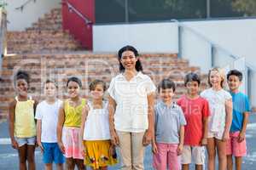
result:
[[[23,11],[15,8],[26,3],[27,0],[8,0],[7,3],[7,20],[9,20],[9,31],[23,31],[26,27],[32,26],[39,17],[49,13],[52,8],[61,8],[61,0],[36,0],[28,3]]]

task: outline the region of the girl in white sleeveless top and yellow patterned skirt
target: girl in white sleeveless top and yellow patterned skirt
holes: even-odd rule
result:
[[[92,169],[108,169],[117,163],[110,141],[108,102],[103,100],[106,84],[101,80],[90,83],[92,101],[84,107],[81,139],[84,143],[84,164]]]

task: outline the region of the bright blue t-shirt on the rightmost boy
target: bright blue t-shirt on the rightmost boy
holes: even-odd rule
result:
[[[233,119],[230,132],[241,131],[243,123],[243,113],[250,111],[250,104],[247,95],[241,92],[230,93],[233,101]]]

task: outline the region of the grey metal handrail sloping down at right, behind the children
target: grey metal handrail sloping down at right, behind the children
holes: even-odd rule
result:
[[[193,28],[189,27],[189,26],[186,26],[185,24],[179,22],[178,20],[171,20],[172,22],[175,22],[177,23],[177,28],[178,28],[178,56],[179,57],[182,57],[183,54],[182,54],[182,48],[183,48],[183,44],[182,44],[182,33],[183,33],[183,30],[187,30],[187,31],[190,31],[192,34],[194,34],[196,37],[199,37],[202,41],[204,42],[207,42],[210,47],[211,47],[211,53],[210,53],[210,57],[211,57],[211,65],[212,67],[213,66],[218,66],[215,64],[214,60],[217,56],[215,56],[215,53],[214,51],[219,51],[219,52],[222,52],[226,55],[224,56],[229,56],[230,59],[233,60],[233,62],[235,62],[236,60],[238,59],[241,59],[241,57],[237,56],[236,54],[233,54],[231,53],[229,50],[227,50],[226,48],[223,48],[222,46],[220,46],[218,43],[216,42],[213,42],[211,39],[205,37],[204,35],[202,35],[200,32],[198,31],[195,31]],[[251,94],[252,94],[252,83],[251,80],[252,80],[252,77],[253,77],[253,74],[256,74],[256,68],[255,66],[253,65],[250,65],[249,63],[247,63],[245,61],[245,79],[246,79],[246,91],[247,91],[247,95],[248,97],[251,99]]]

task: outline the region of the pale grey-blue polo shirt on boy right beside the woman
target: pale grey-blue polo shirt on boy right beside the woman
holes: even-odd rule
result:
[[[175,103],[159,100],[154,106],[154,130],[157,143],[179,144],[180,127],[186,125],[183,110]]]

